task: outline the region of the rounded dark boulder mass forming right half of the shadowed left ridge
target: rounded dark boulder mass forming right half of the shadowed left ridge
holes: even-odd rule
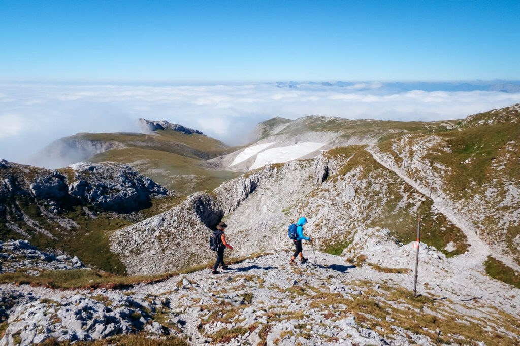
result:
[[[168,193],[161,185],[126,165],[80,162],[70,167],[77,180],[69,184],[69,194],[101,209],[136,210],[150,202],[150,198]]]

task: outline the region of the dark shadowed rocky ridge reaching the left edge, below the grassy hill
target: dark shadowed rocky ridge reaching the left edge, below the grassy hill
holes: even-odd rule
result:
[[[70,177],[56,170],[3,161],[0,167],[2,208],[5,210],[8,200],[15,195],[26,195],[54,213],[78,201],[105,210],[131,211],[142,208],[150,198],[168,193],[161,185],[126,165],[79,163],[63,172]]]

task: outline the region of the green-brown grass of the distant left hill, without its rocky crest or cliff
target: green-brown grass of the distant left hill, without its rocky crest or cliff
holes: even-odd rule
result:
[[[216,188],[238,176],[235,172],[206,169],[202,160],[232,152],[214,138],[186,135],[173,130],[159,130],[155,135],[82,134],[83,139],[118,141],[127,146],[95,155],[88,161],[112,161],[137,169],[168,190],[183,195]]]

